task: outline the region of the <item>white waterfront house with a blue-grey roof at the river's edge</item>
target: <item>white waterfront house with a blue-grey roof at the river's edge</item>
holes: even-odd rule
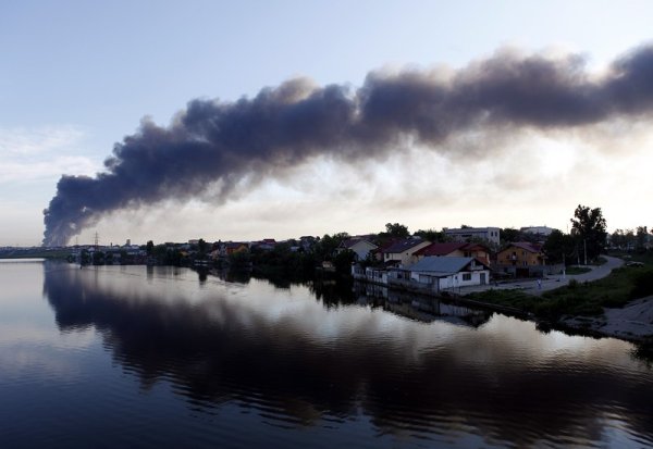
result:
[[[484,285],[490,280],[490,266],[475,258],[439,258],[430,255],[410,266],[410,279],[428,285],[433,291]]]

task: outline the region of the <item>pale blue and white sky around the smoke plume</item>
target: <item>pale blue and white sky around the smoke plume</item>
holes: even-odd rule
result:
[[[54,210],[53,197],[65,199],[58,191],[62,175],[98,179],[112,170],[104,164],[111,157],[116,170],[128,169],[127,150],[143,141],[157,157],[156,139],[143,137],[148,129],[174,137],[183,122],[190,136],[193,104],[221,104],[221,114],[237,116],[236,105],[250,104],[261,89],[274,97],[288,85],[300,88],[286,102],[334,85],[358,104],[362,87],[406,73],[448,86],[456,74],[482,79],[483,61],[528,57],[581,61],[586,78],[603,79],[615,61],[653,42],[651,16],[650,1],[5,0],[0,246],[41,244],[44,210]],[[356,137],[364,148],[356,155],[341,148],[348,140],[326,150],[303,140],[310,153],[285,149],[272,160],[230,148],[235,159],[221,162],[220,176],[201,177],[183,195],[167,177],[165,195],[157,187],[156,195],[131,190],[131,199],[112,201],[126,194],[111,184],[106,198],[84,205],[93,216],[63,235],[87,244],[97,233],[101,244],[122,245],[356,235],[389,222],[410,230],[461,224],[567,230],[578,204],[601,208],[609,232],[653,227],[649,113],[574,126],[500,122],[454,126],[442,139],[416,137],[411,127],[396,140]],[[126,145],[126,136],[136,144]],[[150,188],[150,177],[128,173],[122,182]],[[178,177],[189,185],[193,172]],[[99,202],[111,205],[97,212]]]

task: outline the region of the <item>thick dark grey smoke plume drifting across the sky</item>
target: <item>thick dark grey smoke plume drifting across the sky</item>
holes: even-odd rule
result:
[[[62,176],[44,211],[44,245],[65,245],[103,214],[209,187],[224,201],[243,184],[320,155],[355,163],[406,139],[439,151],[478,128],[546,130],[652,113],[653,46],[626,53],[601,77],[578,55],[500,53],[446,76],[372,72],[357,90],[292,79],[236,102],[193,100],[168,127],[144,121],[96,177]]]

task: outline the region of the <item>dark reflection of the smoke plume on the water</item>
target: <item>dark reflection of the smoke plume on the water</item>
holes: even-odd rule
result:
[[[473,335],[467,346],[409,357],[415,348],[401,336],[374,338],[361,324],[346,337],[320,339],[307,334],[301,316],[275,322],[220,290],[201,303],[132,299],[103,288],[97,273],[45,276],[62,329],[96,327],[144,387],[172,379],[194,404],[233,401],[304,425],[326,414],[344,420],[361,407],[383,432],[471,432],[517,446],[540,438],[564,445],[586,429],[601,440],[604,415],[617,404],[633,433],[653,439],[653,389],[611,369],[532,369],[505,345],[476,363],[467,351],[484,342]],[[324,303],[336,297],[332,284],[312,288]]]

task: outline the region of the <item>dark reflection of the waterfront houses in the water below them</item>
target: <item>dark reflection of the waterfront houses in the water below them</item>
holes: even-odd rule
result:
[[[369,283],[355,283],[357,303],[380,307],[383,310],[423,323],[444,321],[478,327],[486,323],[493,312],[445,303],[438,298],[411,295]]]

